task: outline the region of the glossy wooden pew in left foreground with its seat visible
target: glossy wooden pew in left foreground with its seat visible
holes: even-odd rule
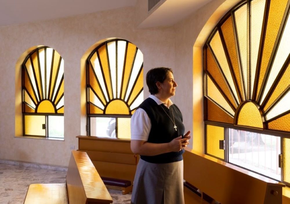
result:
[[[24,204],[93,204],[113,200],[86,152],[72,151],[66,184],[31,184]]]

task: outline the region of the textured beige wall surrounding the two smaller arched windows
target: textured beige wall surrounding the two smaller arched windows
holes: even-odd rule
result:
[[[0,28],[0,160],[68,165],[70,145],[77,149],[76,136],[86,134],[85,116],[81,115],[84,107],[80,105],[85,97],[81,95],[81,58],[96,42],[108,37],[131,41],[144,54],[145,73],[155,66],[174,67],[174,28],[136,30],[134,12],[133,7],[127,7]],[[64,59],[65,141],[15,138],[14,113],[21,114],[19,104],[15,110],[15,96],[16,103],[21,97],[21,84],[15,83],[20,67],[15,65],[26,50],[38,45],[57,50]],[[148,95],[147,89],[144,95]]]

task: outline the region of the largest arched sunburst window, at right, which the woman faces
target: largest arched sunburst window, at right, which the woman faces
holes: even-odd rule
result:
[[[289,135],[289,7],[288,0],[242,1],[212,31],[204,45],[204,120],[207,125],[224,127],[225,135],[231,132],[227,127]],[[211,138],[208,134],[210,132],[206,132],[207,140]],[[239,131],[237,135],[240,137],[240,134],[244,142],[257,140],[266,149],[264,136],[248,137],[247,132]],[[276,138],[280,137],[273,140]],[[232,139],[232,142],[226,139],[229,143],[224,149],[233,147],[235,138]],[[278,147],[280,139],[275,144]],[[226,155],[222,157],[225,158]],[[285,177],[285,172],[284,181],[289,183],[290,173]]]

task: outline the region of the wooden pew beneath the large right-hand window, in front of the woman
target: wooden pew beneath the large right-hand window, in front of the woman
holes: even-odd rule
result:
[[[285,184],[187,149],[184,180],[222,204],[281,204]]]

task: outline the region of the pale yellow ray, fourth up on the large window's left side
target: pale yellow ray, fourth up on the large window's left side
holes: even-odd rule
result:
[[[229,85],[231,87],[231,90],[233,91],[235,99],[237,101],[239,101],[238,94],[237,94],[236,89],[235,89],[235,85],[234,85],[234,82],[233,82],[233,78],[232,78],[232,75],[231,75],[229,64],[228,64],[228,62],[226,60],[226,55],[224,53],[223,46],[222,46],[222,41],[220,39],[220,34],[219,34],[218,31],[215,33],[215,35],[211,39],[210,46],[211,46],[211,48],[213,50],[213,53],[215,54],[215,56],[218,59],[218,62],[220,64],[221,68],[222,68],[222,71],[223,71],[223,73],[224,73],[224,75],[226,77],[226,80],[228,81],[228,83],[229,83]]]

